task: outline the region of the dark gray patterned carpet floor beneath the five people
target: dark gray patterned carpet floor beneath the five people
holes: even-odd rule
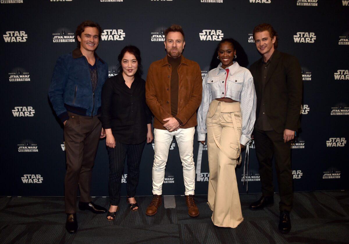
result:
[[[128,209],[121,198],[114,221],[106,215],[78,211],[76,234],[65,230],[64,198],[1,197],[0,243],[349,243],[349,192],[295,193],[291,212],[292,229],[279,234],[279,195],[275,204],[260,211],[250,211],[251,202],[261,194],[241,194],[244,221],[235,229],[216,227],[207,196],[196,196],[200,215],[187,214],[184,196],[176,196],[176,208],[162,205],[155,216],[146,216],[151,197],[136,198],[140,210]],[[109,199],[93,201],[106,208]]]

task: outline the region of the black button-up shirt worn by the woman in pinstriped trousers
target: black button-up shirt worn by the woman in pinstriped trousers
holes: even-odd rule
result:
[[[102,89],[102,114],[104,129],[112,130],[116,141],[139,144],[147,139],[147,124],[151,112],[146,104],[146,82],[135,76],[131,88],[122,74],[108,78]]]

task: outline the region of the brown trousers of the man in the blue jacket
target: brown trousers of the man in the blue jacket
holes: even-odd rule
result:
[[[95,162],[102,124],[97,116],[81,116],[68,112],[64,126],[67,172],[64,180],[65,210],[76,213],[77,188],[80,201],[90,202],[92,167]]]

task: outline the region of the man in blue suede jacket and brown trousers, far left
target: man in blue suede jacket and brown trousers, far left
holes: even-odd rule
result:
[[[64,124],[67,172],[65,175],[66,229],[77,230],[76,199],[80,188],[79,209],[105,213],[106,209],[91,202],[90,186],[99,138],[105,137],[98,117],[101,92],[108,78],[107,64],[95,50],[102,29],[92,21],[76,29],[77,48],[58,58],[54,67],[49,97],[53,109]]]

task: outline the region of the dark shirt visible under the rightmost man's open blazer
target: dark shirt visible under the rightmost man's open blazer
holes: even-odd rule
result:
[[[274,54],[274,53],[273,53]],[[267,114],[266,114],[266,109],[265,109],[265,94],[264,94],[264,87],[267,82],[267,77],[268,77],[268,69],[270,67],[270,62],[272,62],[273,55],[268,59],[267,62],[261,61],[261,81],[262,81],[262,99],[261,99],[261,107],[259,110],[259,114],[257,116],[257,120],[255,123],[255,128],[259,130],[273,130],[272,125],[270,125]],[[263,60],[263,59],[262,59]]]

